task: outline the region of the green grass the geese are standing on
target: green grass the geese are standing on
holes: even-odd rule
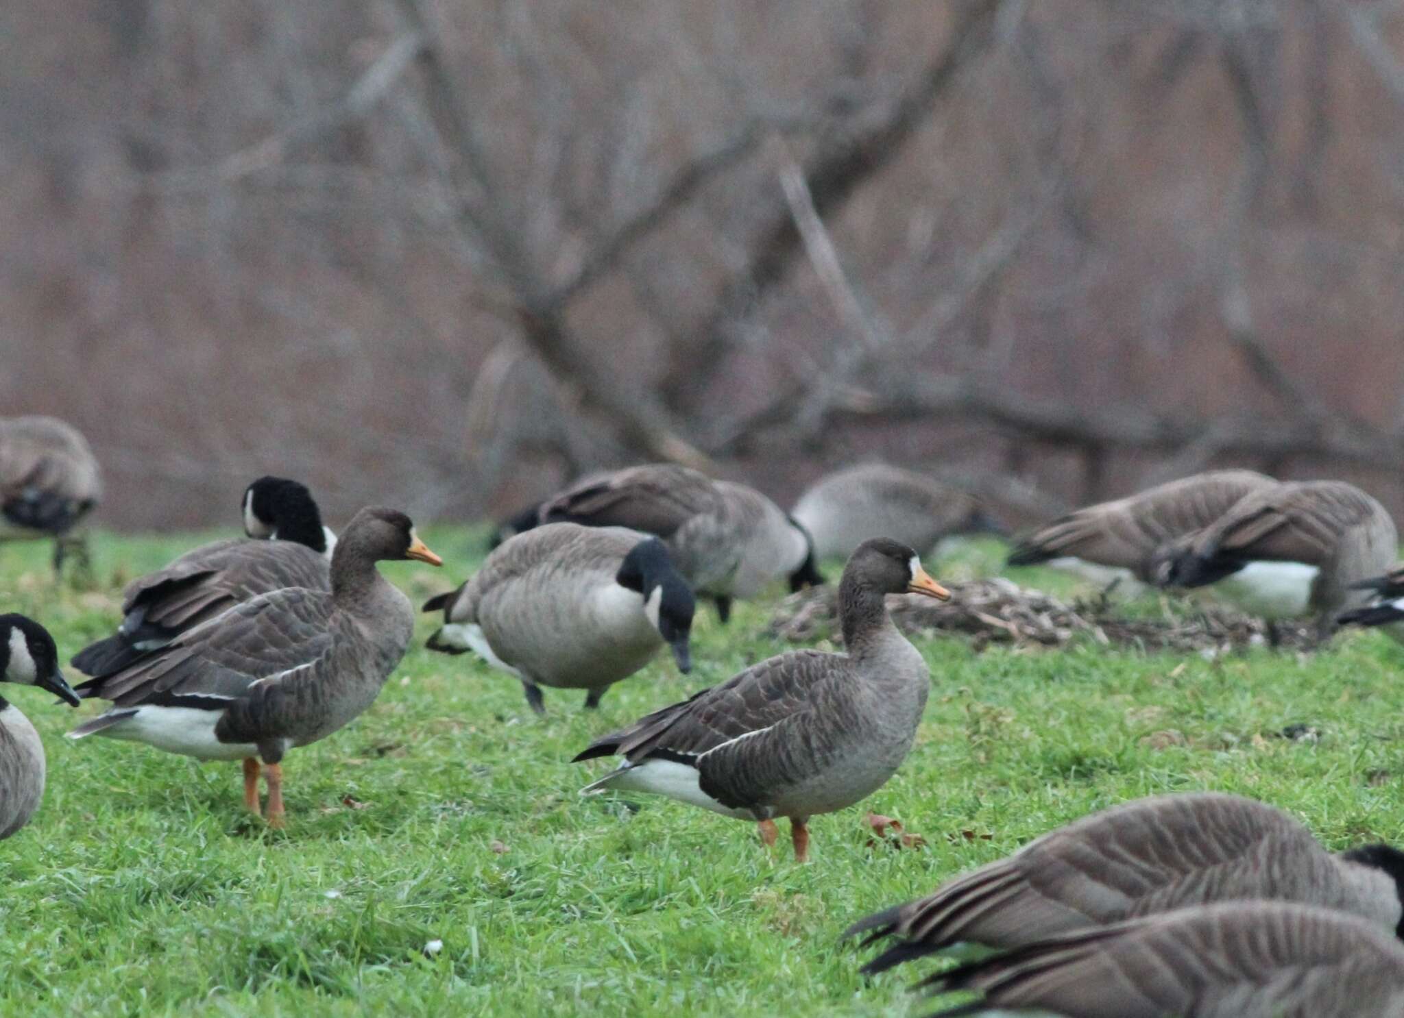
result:
[[[385,568],[416,600],[480,557],[476,531],[425,537],[444,571]],[[0,604],[66,658],[111,631],[125,578],[194,540],[100,534],[86,590],[53,583],[46,547],[0,545]],[[984,545],[934,572],[997,561]],[[595,714],[548,690],[545,719],[514,680],[424,651],[424,618],[375,707],[289,754],[285,832],[243,813],[237,766],[70,743],[79,714],[6,687],[45,736],[49,788],[0,843],[0,1015],[915,1015],[931,1007],[904,987],[931,966],[865,983],[837,934],[1090,810],[1214,788],[1279,803],[1332,847],[1404,841],[1404,653],[1379,634],[1219,662],[922,641],[917,746],[863,803],[922,851],[869,847],[862,806],[817,817],[796,865],[751,824],[577,796],[598,767],[569,760],[592,736],[785,649],[762,635],[768,611],[737,606],[726,630],[703,611],[689,677],[661,656]],[[1320,742],[1275,736],[1293,722]]]

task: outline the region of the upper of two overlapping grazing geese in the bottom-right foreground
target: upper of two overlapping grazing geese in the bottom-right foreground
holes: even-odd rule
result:
[[[1005,951],[1212,902],[1317,904],[1398,930],[1401,879],[1404,853],[1389,846],[1332,855],[1294,817],[1262,802],[1158,795],[1050,832],[845,935],[896,939],[863,968],[873,973],[924,955]]]

